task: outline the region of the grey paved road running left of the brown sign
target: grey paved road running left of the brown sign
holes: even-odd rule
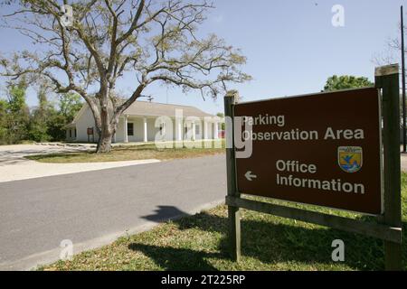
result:
[[[0,269],[56,260],[127,230],[194,213],[225,195],[224,155],[0,183]]]

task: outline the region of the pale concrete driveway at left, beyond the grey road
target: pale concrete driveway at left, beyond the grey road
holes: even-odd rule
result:
[[[0,182],[11,182],[74,172],[90,172],[128,165],[158,163],[158,160],[139,160],[106,163],[38,163],[24,158],[35,154],[61,154],[90,150],[90,144],[15,144],[0,145]]]

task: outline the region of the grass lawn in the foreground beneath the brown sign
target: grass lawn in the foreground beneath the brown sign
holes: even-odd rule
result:
[[[271,200],[269,200],[271,201]],[[275,203],[282,201],[272,200]],[[287,204],[287,203],[285,203]],[[334,213],[316,206],[293,205]],[[363,218],[337,210],[335,214]],[[407,269],[407,173],[402,173],[403,268]],[[40,270],[382,270],[382,241],[291,219],[243,210],[242,258],[227,254],[227,210],[218,206],[168,221],[147,232],[83,252]],[[345,242],[345,262],[333,262],[331,243]]]

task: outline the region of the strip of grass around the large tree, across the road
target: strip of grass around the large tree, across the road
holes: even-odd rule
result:
[[[174,144],[174,143],[170,143]],[[192,144],[201,145],[201,148],[189,148]],[[216,144],[216,146],[215,146]],[[27,159],[41,163],[98,163],[118,162],[131,160],[171,160],[190,157],[199,157],[210,154],[224,153],[224,141],[196,141],[185,143],[186,147],[157,148],[156,144],[138,144],[114,146],[109,154],[96,154],[94,152],[78,152],[63,154],[39,154],[26,156]],[[190,145],[190,146],[188,146]],[[219,147],[221,146],[221,147]],[[210,148],[205,148],[210,147]]]

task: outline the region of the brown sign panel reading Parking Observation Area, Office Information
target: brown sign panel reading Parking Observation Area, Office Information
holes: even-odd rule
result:
[[[241,103],[234,117],[236,136],[252,141],[251,156],[236,158],[239,192],[383,212],[378,89]]]

